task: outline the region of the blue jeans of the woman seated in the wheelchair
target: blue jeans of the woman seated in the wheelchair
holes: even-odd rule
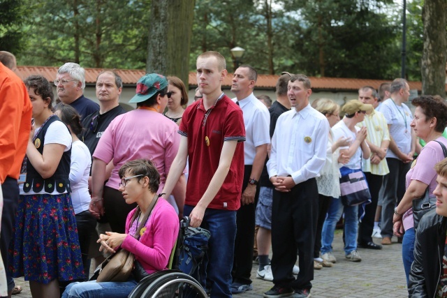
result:
[[[85,281],[67,285],[62,298],[122,298],[127,297],[135,288],[137,282],[129,280],[124,282],[96,283]]]

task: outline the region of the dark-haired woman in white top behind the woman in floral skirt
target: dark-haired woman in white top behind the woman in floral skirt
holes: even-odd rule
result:
[[[91,231],[96,227],[96,219],[89,212],[89,175],[91,167],[91,155],[87,146],[79,140],[78,135],[82,133],[80,115],[71,105],[59,104],[55,108],[54,114],[61,119],[68,127],[73,142],[71,144],[71,164],[70,164],[70,184],[71,202],[75,211],[76,225],[78,227],[79,244],[82,253],[82,265],[88,278],[89,267],[87,267],[87,257]]]

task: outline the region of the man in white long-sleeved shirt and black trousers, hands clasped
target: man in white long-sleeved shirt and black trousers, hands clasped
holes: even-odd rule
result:
[[[309,297],[314,279],[314,241],[318,217],[315,177],[325,163],[329,123],[309,105],[312,94],[305,75],[292,75],[288,99],[292,110],[281,114],[267,163],[275,187],[272,206],[274,287],[264,297]],[[292,274],[296,251],[300,273]],[[295,292],[295,294],[294,294]]]

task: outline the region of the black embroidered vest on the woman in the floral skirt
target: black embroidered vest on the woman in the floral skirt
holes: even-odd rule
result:
[[[42,126],[41,131],[38,132],[36,139],[34,140],[34,146],[36,146],[37,151],[43,154],[43,144],[45,143],[45,134],[47,133],[48,126],[54,121],[60,121],[57,116],[51,117],[44,126]],[[68,128],[67,128],[68,129]],[[39,193],[45,188],[45,193],[52,193],[54,188],[58,193],[64,193],[68,191],[71,193],[70,180],[68,175],[70,174],[70,163],[71,163],[71,149],[62,154],[61,161],[57,165],[56,172],[52,177],[43,179],[41,174],[39,174],[33,165],[27,159],[27,180],[23,185],[24,193],[31,191],[31,187],[35,193]]]

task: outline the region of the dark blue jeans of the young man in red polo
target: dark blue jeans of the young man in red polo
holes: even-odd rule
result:
[[[184,205],[183,214],[189,216],[192,210],[193,206]],[[211,288],[211,297],[231,297],[236,211],[206,209],[200,227],[209,230],[211,237],[207,254],[199,268],[198,281],[203,288]],[[207,279],[210,285],[207,285]]]

